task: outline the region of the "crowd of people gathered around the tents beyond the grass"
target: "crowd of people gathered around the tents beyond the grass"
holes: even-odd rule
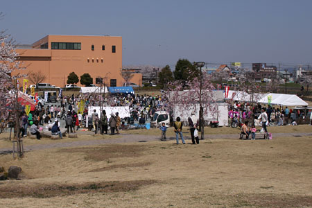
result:
[[[84,100],[83,112],[78,113],[78,103]],[[151,95],[114,95],[107,98],[98,98],[94,95],[84,96],[78,94],[76,96],[64,96],[58,99],[58,105],[42,105],[39,103],[35,105],[35,110],[28,113],[21,113],[20,127],[21,137],[26,137],[29,131],[32,135],[36,135],[37,139],[40,139],[40,125],[43,125],[46,129],[52,130],[52,134],[60,135],[60,119],[64,120],[64,128],[67,128],[67,132],[76,132],[79,128],[89,128],[93,130],[95,134],[101,133],[101,135],[108,134],[110,129],[110,135],[119,134],[119,130],[127,128],[125,123],[138,122],[142,125],[146,123],[147,119],[152,119],[153,114],[158,110],[166,110],[166,104],[164,103],[162,96]],[[105,110],[101,114],[97,114],[96,110],[92,114],[88,114],[88,107],[98,106],[128,106],[130,109],[130,117],[127,119],[121,119],[119,113],[110,114],[110,119],[107,119]],[[252,134],[254,139],[255,126],[261,125],[264,132],[267,132],[266,126],[268,125],[286,125],[287,123],[296,124],[297,116],[303,116],[304,112],[300,110],[288,109],[288,107],[279,108],[263,107],[261,104],[250,105],[250,103],[234,103],[229,104],[229,118],[236,119],[242,123],[242,134],[249,136]],[[311,116],[312,120],[312,116]],[[248,121],[246,123],[246,121]],[[250,122],[252,121],[252,122]],[[188,119],[189,130],[191,132],[192,144],[199,144],[198,139],[198,118],[195,113],[192,112]],[[173,123],[175,129],[175,136],[177,144],[179,144],[178,137],[182,139],[184,144],[184,138],[182,135],[183,123],[180,118],[175,118]],[[248,126],[251,128],[248,128]],[[166,126],[160,127],[162,131],[161,140],[166,140]]]

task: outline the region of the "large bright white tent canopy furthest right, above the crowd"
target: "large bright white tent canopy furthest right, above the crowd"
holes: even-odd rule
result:
[[[295,94],[266,94],[261,98],[259,103],[268,103],[268,97],[271,96],[272,105],[285,105],[285,106],[308,106],[308,103],[302,100],[302,98],[296,96]]]

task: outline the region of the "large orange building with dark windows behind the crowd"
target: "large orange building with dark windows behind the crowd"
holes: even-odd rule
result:
[[[91,35],[47,35],[31,45],[17,45],[19,61],[29,72],[41,71],[46,76],[42,83],[58,87],[67,84],[67,76],[74,71],[80,78],[89,73],[106,78],[107,86],[121,86],[122,37]],[[17,71],[12,72],[15,75]],[[141,73],[135,73],[131,83],[141,85]],[[80,83],[78,83],[80,85]]]

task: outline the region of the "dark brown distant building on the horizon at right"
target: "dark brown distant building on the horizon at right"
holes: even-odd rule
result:
[[[255,80],[275,78],[277,76],[277,67],[267,66],[266,63],[253,63],[252,71],[254,73]]]

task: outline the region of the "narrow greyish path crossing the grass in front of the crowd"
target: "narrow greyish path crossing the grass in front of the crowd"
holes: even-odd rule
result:
[[[312,133],[275,133],[274,137],[304,137],[312,136]],[[184,139],[190,140],[191,137],[184,134]],[[231,135],[205,135],[205,139],[239,139],[238,134]],[[273,138],[274,139],[274,138]],[[102,144],[122,144],[129,142],[148,142],[159,140],[159,136],[155,135],[125,135],[121,134],[121,137],[116,137],[113,139],[96,139],[96,140],[86,140],[86,141],[69,141],[69,142],[60,142],[56,144],[35,144],[24,146],[24,151],[33,151],[33,150],[44,150],[51,148],[70,148],[77,146],[96,146]],[[167,139],[169,142],[175,143],[175,137],[169,137]],[[187,141],[189,143],[189,141]],[[0,155],[12,153],[12,148],[0,148]]]

